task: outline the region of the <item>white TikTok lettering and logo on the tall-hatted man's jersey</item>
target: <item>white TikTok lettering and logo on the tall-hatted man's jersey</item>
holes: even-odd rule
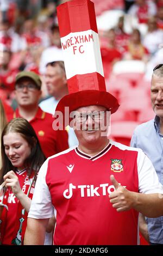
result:
[[[114,192],[115,187],[114,185],[109,186],[108,183],[100,184],[99,187],[95,187],[94,185],[74,186],[72,183],[70,183],[69,188],[67,188],[67,190],[65,190],[63,193],[64,197],[66,199],[70,199],[73,196],[74,190],[79,190],[80,197],[94,197],[94,196],[100,197],[100,196],[106,196],[106,194],[110,194]]]

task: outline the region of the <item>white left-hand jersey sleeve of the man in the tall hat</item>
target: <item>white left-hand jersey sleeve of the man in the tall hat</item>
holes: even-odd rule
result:
[[[29,218],[51,218],[54,216],[51,194],[46,184],[48,159],[42,164],[37,177],[32,204],[30,205]]]

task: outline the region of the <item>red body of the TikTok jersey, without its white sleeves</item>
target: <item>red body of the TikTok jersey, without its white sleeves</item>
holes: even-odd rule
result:
[[[128,190],[138,191],[137,152],[129,155],[109,144],[94,157],[76,149],[49,160],[46,182],[57,210],[55,245],[137,243],[137,212],[130,210],[120,214],[109,202],[109,194],[114,191],[110,174]],[[129,159],[135,164],[129,163]],[[116,163],[115,169],[112,167],[115,160],[121,162],[120,169],[116,170]]]

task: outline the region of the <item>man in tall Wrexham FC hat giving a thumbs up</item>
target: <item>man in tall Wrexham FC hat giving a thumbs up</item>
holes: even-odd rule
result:
[[[54,245],[137,245],[139,212],[162,215],[162,186],[142,150],[107,136],[119,105],[105,90],[93,3],[62,4],[58,20],[69,95],[59,101],[56,120],[74,128],[79,145],[42,165],[24,244],[43,244],[54,212]]]

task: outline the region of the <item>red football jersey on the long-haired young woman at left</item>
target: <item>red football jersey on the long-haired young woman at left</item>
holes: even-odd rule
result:
[[[34,173],[30,175],[30,179],[27,176],[26,169],[18,172],[18,181],[22,188],[23,193],[27,194],[30,184],[33,181]],[[29,198],[32,199],[34,193],[33,183],[29,191]],[[22,243],[24,232],[27,227],[27,212],[24,211],[22,214],[22,205],[18,203],[18,199],[12,193],[11,188],[8,188],[4,194],[5,204],[8,206],[8,210],[4,209],[1,216],[1,242],[3,245],[16,244],[15,241]]]

